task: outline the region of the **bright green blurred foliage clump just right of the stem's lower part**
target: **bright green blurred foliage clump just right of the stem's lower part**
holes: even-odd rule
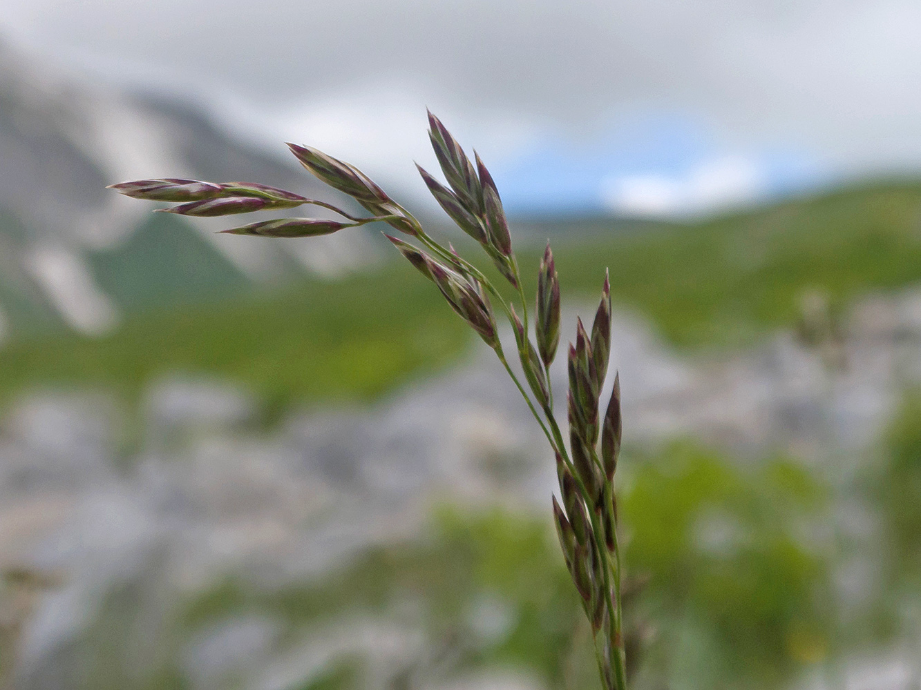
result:
[[[834,618],[829,548],[810,539],[827,502],[817,480],[687,443],[623,465],[637,461],[621,506],[628,574],[649,578],[634,615],[659,630],[647,683],[771,686],[822,661]]]

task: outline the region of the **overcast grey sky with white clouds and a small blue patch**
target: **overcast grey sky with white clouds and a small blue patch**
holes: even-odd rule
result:
[[[523,211],[921,171],[918,0],[5,0],[0,31],[385,177],[431,163],[428,105]]]

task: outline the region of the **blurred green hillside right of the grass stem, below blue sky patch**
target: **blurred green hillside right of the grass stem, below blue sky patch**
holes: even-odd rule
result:
[[[554,242],[554,253],[564,295],[600,292],[610,267],[615,299],[671,341],[735,346],[791,326],[806,289],[846,302],[921,281],[919,217],[917,185],[847,189],[702,224]],[[522,265],[536,267],[536,256]]]

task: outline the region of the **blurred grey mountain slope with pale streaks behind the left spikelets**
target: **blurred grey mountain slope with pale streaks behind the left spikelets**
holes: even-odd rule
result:
[[[2,40],[0,161],[0,321],[13,334],[54,325],[105,332],[135,306],[166,298],[163,288],[178,273],[191,275],[154,247],[157,228],[165,226],[148,224],[153,207],[106,190],[108,184],[255,180],[329,196],[281,143],[278,155],[269,155],[192,104],[103,88]],[[170,231],[170,241],[194,245],[195,256],[215,269],[194,269],[193,293],[220,292],[227,281],[349,270],[359,254],[345,255],[341,240],[326,237],[314,243],[322,255],[315,261],[297,243],[217,237],[211,220],[184,219]],[[128,238],[138,231],[154,235]],[[172,256],[181,259],[178,250]],[[211,279],[215,284],[206,284]],[[169,294],[179,293],[185,294],[177,287]]]

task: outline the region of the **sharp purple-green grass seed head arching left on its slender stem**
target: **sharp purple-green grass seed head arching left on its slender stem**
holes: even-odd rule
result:
[[[512,249],[506,213],[495,181],[479,155],[473,159],[441,121],[429,113],[429,138],[447,186],[423,168],[419,173],[441,208],[483,249],[513,299],[507,300],[483,270],[450,244],[430,236],[422,224],[361,170],[309,146],[288,144],[301,165],[344,192],[369,215],[356,216],[330,203],[258,183],[215,183],[160,178],[122,182],[112,188],[136,199],[176,205],[157,209],[186,216],[223,216],[263,210],[318,206],[342,220],[291,217],[239,225],[222,232],[264,237],[322,236],[344,228],[383,222],[403,238],[385,235],[402,256],[434,283],[450,308],[495,351],[519,389],[553,450],[560,502],[553,499],[554,522],[566,567],[591,625],[600,678],[608,690],[626,687],[621,563],[613,478],[621,445],[620,385],[614,377],[606,408],[600,408],[611,351],[611,290],[607,275],[591,328],[577,322],[567,351],[568,443],[554,413],[550,365],[559,342],[560,286],[550,244],[537,271],[536,305],[525,295],[519,261]],[[515,303],[519,302],[520,316]],[[499,339],[495,306],[512,327],[522,382]]]

